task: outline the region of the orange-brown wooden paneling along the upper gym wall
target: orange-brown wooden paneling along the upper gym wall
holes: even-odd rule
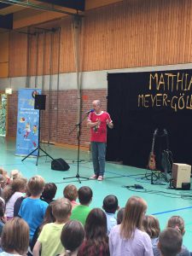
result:
[[[79,38],[82,70],[190,62],[191,9],[189,0],[127,0],[86,11]],[[43,73],[42,37],[39,35],[38,75]],[[49,33],[45,38],[45,73],[49,74]],[[26,75],[26,42],[26,35],[11,32],[11,76]],[[37,49],[33,37],[31,44],[30,73],[34,75]],[[55,32],[53,73],[57,73],[57,47]],[[75,72],[72,17],[65,17],[61,20],[61,73],[72,72]]]

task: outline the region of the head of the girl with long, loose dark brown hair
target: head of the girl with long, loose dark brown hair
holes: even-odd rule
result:
[[[86,239],[102,239],[107,234],[107,217],[100,208],[94,208],[88,214],[85,225]]]

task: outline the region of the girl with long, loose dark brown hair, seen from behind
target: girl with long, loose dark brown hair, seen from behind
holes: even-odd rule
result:
[[[84,230],[85,240],[79,247],[78,256],[109,256],[107,217],[102,209],[94,208],[90,211]]]

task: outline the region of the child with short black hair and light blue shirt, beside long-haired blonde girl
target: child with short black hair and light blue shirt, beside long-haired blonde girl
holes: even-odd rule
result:
[[[113,226],[117,224],[115,212],[119,210],[118,199],[115,195],[107,195],[103,200],[102,209],[105,211],[108,224],[108,234]]]

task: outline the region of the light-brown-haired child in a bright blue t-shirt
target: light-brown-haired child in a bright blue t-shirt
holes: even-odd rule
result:
[[[48,203],[40,200],[44,190],[44,178],[38,175],[31,177],[27,189],[31,195],[22,201],[18,215],[29,225],[30,241],[32,241],[35,230],[43,223],[44,213],[48,207]]]

